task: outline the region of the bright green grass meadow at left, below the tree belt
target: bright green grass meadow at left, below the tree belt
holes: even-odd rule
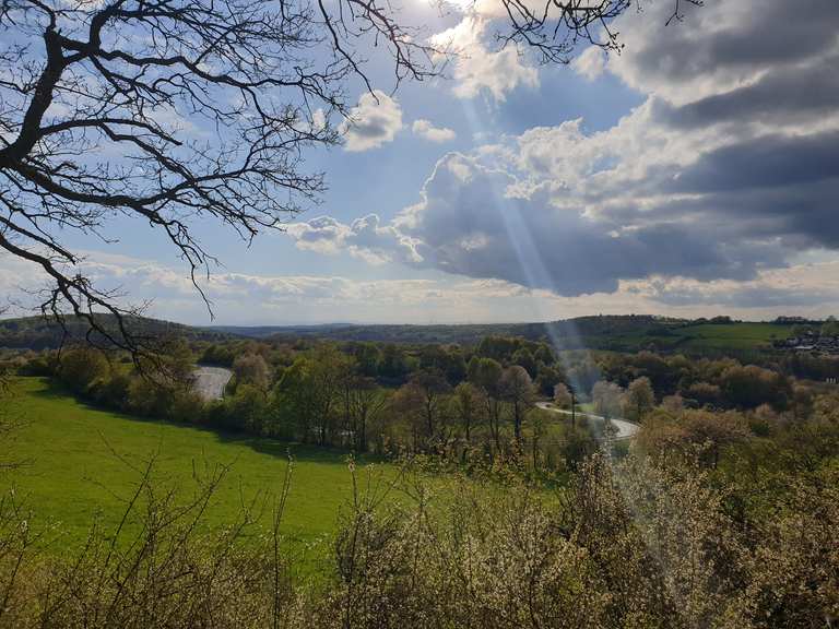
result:
[[[109,413],[39,378],[14,381],[12,393],[9,406],[24,422],[13,451],[25,465],[3,484],[8,488],[12,483],[25,497],[34,522],[59,525],[62,538],[57,546],[62,548],[72,549],[85,539],[95,513],[106,529],[115,530],[140,478],[132,466],[142,467],[153,455],[156,483],[178,486],[185,500],[197,488],[193,470],[231,465],[206,519],[210,525],[222,525],[235,520],[243,497],[279,491],[291,451],[294,466],[283,532],[303,542],[297,547],[311,547],[312,559],[327,556],[339,509],[352,495],[346,455],[340,452]],[[390,472],[387,465],[376,467]],[[366,477],[366,472],[359,476]],[[264,522],[270,522],[268,512]]]

